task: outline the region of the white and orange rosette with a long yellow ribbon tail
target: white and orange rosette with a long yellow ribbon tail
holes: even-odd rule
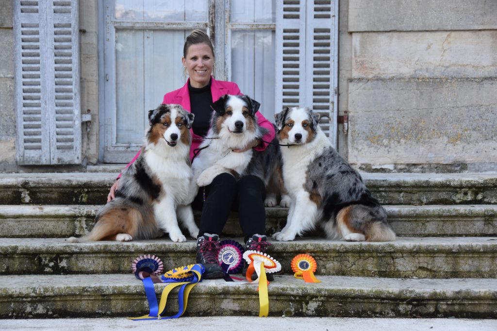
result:
[[[266,272],[273,273],[280,271],[281,264],[268,254],[257,250],[246,250],[244,252],[244,259],[249,263],[246,273],[247,280],[252,280],[251,277],[254,271],[258,276],[259,317],[267,317],[269,314],[269,297],[267,295],[267,285],[269,282],[267,281]]]

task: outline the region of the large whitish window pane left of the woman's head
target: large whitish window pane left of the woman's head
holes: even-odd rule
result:
[[[148,110],[184,84],[184,40],[182,30],[116,30],[117,144],[142,144]]]

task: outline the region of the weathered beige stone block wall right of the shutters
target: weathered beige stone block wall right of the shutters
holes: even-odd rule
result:
[[[351,163],[497,169],[496,12],[490,0],[348,1],[351,71],[339,102]]]

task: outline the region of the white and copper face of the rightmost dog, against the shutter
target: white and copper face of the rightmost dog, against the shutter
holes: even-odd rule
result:
[[[284,108],[283,111],[274,115],[279,141],[289,144],[311,142],[316,137],[319,116],[311,109]]]

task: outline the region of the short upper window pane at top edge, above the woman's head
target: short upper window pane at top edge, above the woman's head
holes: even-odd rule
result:
[[[115,0],[115,18],[132,21],[207,21],[205,0]]]

